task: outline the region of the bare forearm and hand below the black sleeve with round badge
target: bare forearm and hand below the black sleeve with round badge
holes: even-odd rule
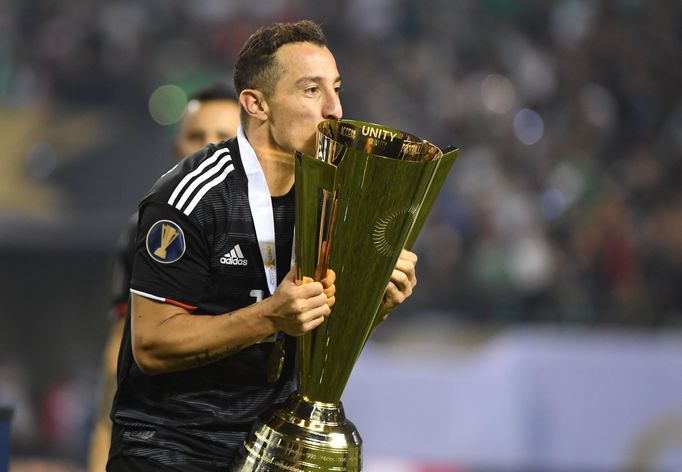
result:
[[[320,282],[297,284],[292,270],[273,296],[216,316],[192,314],[186,308],[133,293],[135,362],[145,374],[163,374],[224,359],[277,331],[300,336],[329,316],[335,280],[334,272],[328,271]]]

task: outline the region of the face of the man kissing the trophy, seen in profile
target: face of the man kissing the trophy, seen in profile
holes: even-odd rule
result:
[[[317,125],[341,119],[341,78],[334,56],[313,43],[290,43],[275,53],[283,69],[267,102],[277,147],[314,154]]]

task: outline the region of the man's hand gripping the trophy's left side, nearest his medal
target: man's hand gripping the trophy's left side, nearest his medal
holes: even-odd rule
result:
[[[300,336],[317,328],[331,313],[336,298],[332,270],[320,282],[306,277],[296,283],[296,269],[292,268],[272,296],[274,310],[271,315],[276,331]]]

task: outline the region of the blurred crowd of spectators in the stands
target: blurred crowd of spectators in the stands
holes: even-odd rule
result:
[[[0,109],[146,113],[155,88],[230,78],[258,26],[305,17],[336,55],[345,117],[461,148],[406,319],[682,321],[679,2],[4,0]]]

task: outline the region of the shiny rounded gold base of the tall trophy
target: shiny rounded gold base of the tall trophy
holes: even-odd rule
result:
[[[244,442],[239,472],[356,472],[362,439],[341,402],[322,403],[294,392],[259,419]]]

